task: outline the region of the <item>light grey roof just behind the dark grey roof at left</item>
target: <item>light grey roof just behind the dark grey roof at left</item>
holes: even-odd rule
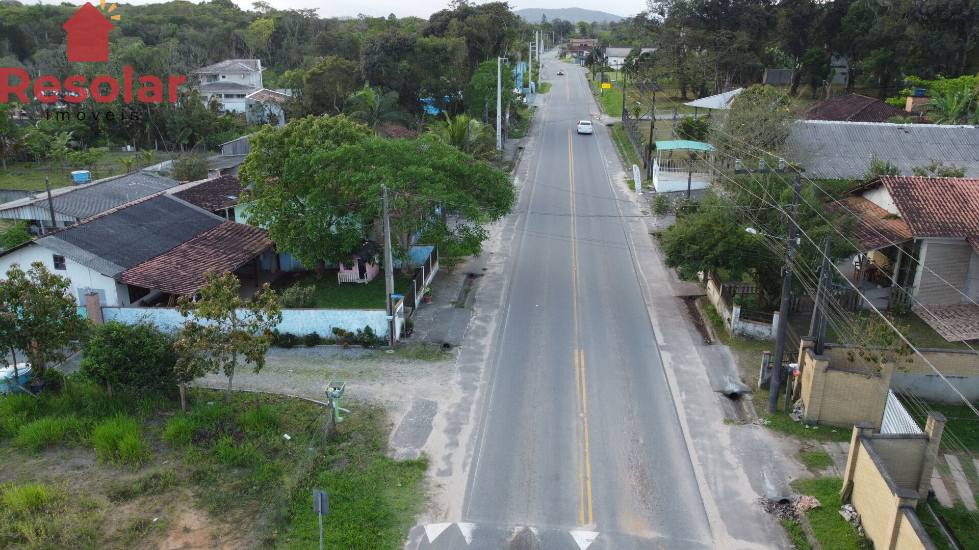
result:
[[[52,199],[55,211],[85,219],[117,206],[149,197],[177,185],[175,179],[149,172],[132,172],[95,185],[79,187]],[[47,201],[38,196],[38,201]]]

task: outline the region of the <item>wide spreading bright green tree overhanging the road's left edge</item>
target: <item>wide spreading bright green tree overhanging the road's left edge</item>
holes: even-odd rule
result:
[[[351,201],[359,199],[356,207],[365,217],[380,217],[382,205],[364,199],[380,197],[381,185],[390,189],[391,232],[404,271],[410,270],[414,235],[428,230],[445,242],[482,243],[483,225],[506,215],[516,202],[504,172],[431,138],[374,138],[338,147],[323,159],[330,184],[344,189]],[[437,216],[436,206],[446,215]]]

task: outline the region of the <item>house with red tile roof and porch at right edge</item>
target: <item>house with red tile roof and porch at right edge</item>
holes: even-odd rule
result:
[[[979,178],[879,176],[826,205],[860,251],[854,278],[950,342],[979,339]]]

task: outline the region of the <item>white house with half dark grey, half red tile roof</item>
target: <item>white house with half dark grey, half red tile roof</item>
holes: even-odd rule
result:
[[[228,221],[204,208],[158,193],[0,252],[0,270],[40,261],[70,280],[85,303],[172,304],[204,286],[210,269],[243,279],[274,266],[268,231]]]

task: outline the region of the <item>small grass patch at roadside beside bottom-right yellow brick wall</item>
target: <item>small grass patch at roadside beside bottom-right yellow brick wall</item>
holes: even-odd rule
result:
[[[792,488],[801,494],[811,494],[816,497],[821,507],[810,510],[806,517],[813,527],[813,534],[819,545],[827,550],[864,550],[867,548],[861,536],[854,527],[847,523],[839,514],[840,487],[843,480],[839,478],[821,478],[815,480],[796,480]]]

